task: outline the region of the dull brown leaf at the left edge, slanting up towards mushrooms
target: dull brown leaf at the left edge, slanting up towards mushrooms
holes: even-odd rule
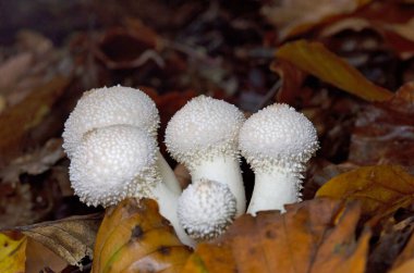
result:
[[[0,164],[16,156],[29,132],[41,124],[50,109],[63,94],[68,78],[57,76],[39,86],[20,103],[8,108],[0,115]]]

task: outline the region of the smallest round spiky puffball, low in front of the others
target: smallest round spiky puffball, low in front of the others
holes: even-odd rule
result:
[[[236,200],[226,184],[193,182],[179,199],[178,216],[190,237],[208,240],[223,233],[233,222]]]

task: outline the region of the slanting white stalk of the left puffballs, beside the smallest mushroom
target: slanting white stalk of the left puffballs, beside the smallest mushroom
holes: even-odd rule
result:
[[[159,212],[162,216],[170,221],[171,225],[174,227],[176,236],[179,239],[190,247],[195,247],[195,241],[188,237],[184,228],[181,226],[176,213],[179,195],[172,193],[165,184],[157,183],[154,188],[151,188],[151,194],[159,206]]]

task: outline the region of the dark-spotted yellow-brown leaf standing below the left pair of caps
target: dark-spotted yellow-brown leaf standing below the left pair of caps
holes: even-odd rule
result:
[[[107,210],[94,249],[94,273],[181,272],[190,249],[150,199],[127,199]]]

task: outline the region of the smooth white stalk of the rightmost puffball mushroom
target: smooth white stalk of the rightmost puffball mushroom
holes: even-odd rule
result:
[[[255,187],[247,208],[247,213],[256,215],[257,211],[280,210],[284,212],[284,204],[301,200],[300,175],[273,170],[272,172],[256,172]]]

